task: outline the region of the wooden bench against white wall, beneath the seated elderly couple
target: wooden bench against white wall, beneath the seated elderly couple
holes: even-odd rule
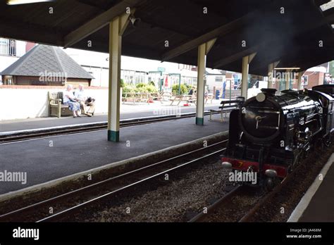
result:
[[[49,92],[49,116],[73,115],[68,107],[63,104],[63,92]]]

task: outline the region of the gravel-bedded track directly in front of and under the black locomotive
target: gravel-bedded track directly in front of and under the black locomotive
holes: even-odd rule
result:
[[[287,183],[292,181],[299,168],[302,168],[302,164],[299,164],[290,175],[287,175],[287,177],[271,191],[263,191],[259,187],[237,185],[232,190],[228,191],[225,196],[214,201],[214,203],[207,208],[206,213],[198,213],[189,220],[189,222],[249,222],[266,201],[273,198]],[[243,203],[244,200],[248,200],[249,203]],[[236,215],[233,212],[239,213],[240,215]],[[234,218],[230,219],[229,215]],[[224,218],[228,218],[228,220]]]

